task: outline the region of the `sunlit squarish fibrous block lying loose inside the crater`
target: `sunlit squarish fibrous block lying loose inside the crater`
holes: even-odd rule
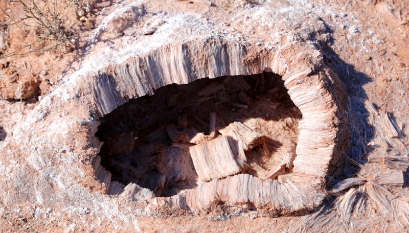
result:
[[[237,144],[231,137],[220,136],[190,147],[190,155],[199,178],[211,181],[239,173],[244,167],[244,158],[240,157],[244,152]]]

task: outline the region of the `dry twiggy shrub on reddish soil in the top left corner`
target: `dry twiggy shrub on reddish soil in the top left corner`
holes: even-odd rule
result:
[[[89,9],[89,5],[89,1],[85,0],[16,0],[9,2],[11,12],[0,6],[0,12],[7,20],[3,28],[17,27],[37,38],[35,41],[24,41],[20,48],[8,51],[0,58],[48,50],[73,51],[78,35],[72,29],[73,22],[69,20],[69,16],[75,15],[80,20],[78,12],[85,17],[89,12],[85,9]]]

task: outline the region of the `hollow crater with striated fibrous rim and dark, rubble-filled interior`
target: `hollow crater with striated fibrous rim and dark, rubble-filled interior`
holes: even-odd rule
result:
[[[204,40],[195,39],[186,41],[181,46],[166,45],[148,54],[141,55],[141,57],[129,58],[120,65],[108,66],[98,75],[89,77],[87,82],[92,87],[98,114],[101,117],[104,116],[101,118],[102,125],[97,136],[102,141],[105,140],[105,146],[101,148],[100,155],[95,157],[93,166],[96,177],[105,184],[106,193],[120,198],[129,198],[137,202],[143,201],[141,202],[145,203],[142,204],[143,206],[147,206],[151,210],[159,209],[159,212],[162,211],[161,206],[168,209],[165,206],[170,205],[184,212],[200,213],[202,210],[212,209],[215,204],[217,206],[227,203],[227,206],[230,207],[223,207],[224,209],[231,207],[257,209],[259,213],[276,216],[302,213],[320,205],[325,197],[326,176],[336,169],[340,155],[348,150],[349,134],[346,130],[346,123],[342,118],[345,108],[345,96],[342,95],[344,87],[339,79],[322,64],[321,55],[317,51],[312,50],[311,54],[304,51],[294,60],[294,57],[291,54],[286,54],[285,51],[252,52],[252,49],[254,48],[243,48],[243,45],[222,37],[211,37]],[[299,49],[301,50],[301,48]],[[217,53],[215,50],[225,51],[226,53]],[[245,60],[249,54],[256,54],[257,56],[252,60]],[[195,60],[197,57],[200,57],[201,60]],[[290,63],[285,63],[285,61],[290,60]],[[309,60],[308,65],[303,64],[305,60]],[[175,61],[181,62],[182,65],[175,65],[177,64]],[[320,68],[312,72],[311,63],[314,65],[313,67]],[[266,71],[277,75],[265,73]],[[228,74],[231,76],[224,77]],[[221,92],[223,89],[233,90],[233,87],[237,85],[235,81],[239,80],[239,77],[243,78],[240,75],[250,75],[244,76],[244,80],[253,89],[257,89],[257,80],[263,79],[255,77],[262,77],[262,75],[281,77],[285,89],[288,90],[290,100],[299,111],[297,114],[295,112],[290,113],[291,117],[289,119],[293,125],[284,126],[284,128],[293,129],[294,132],[294,134],[289,135],[288,142],[282,143],[275,136],[257,136],[257,130],[252,127],[247,128],[249,128],[250,132],[256,131],[257,135],[248,137],[250,138],[249,141],[242,142],[240,136],[237,137],[234,132],[233,135],[224,132],[227,135],[224,136],[223,132],[220,132],[222,130],[222,121],[220,119],[225,116],[223,114],[226,114],[226,112],[235,112],[232,109],[218,111],[215,108],[214,111],[211,109],[211,112],[214,112],[213,114],[206,112],[194,117],[194,112],[185,112],[184,107],[186,106],[180,105],[177,108],[181,109],[181,111],[174,112],[173,117],[167,120],[152,120],[145,116],[149,121],[153,121],[151,128],[147,128],[149,124],[146,122],[130,121],[130,125],[124,124],[126,122],[118,122],[121,119],[134,119],[135,115],[141,113],[134,109],[135,106],[141,107],[138,104],[135,105],[138,101],[142,103],[152,101],[155,98],[162,98],[162,101],[158,101],[159,103],[154,105],[161,106],[162,104],[162,106],[166,105],[166,107],[184,103],[178,98],[185,101],[186,98],[183,98],[183,96],[178,97],[177,88],[183,89],[185,85],[180,84],[190,83],[200,86],[200,84],[195,84],[195,80],[200,79],[198,77],[212,78],[207,81],[206,79],[202,80],[201,82],[206,85],[203,84],[204,87],[198,88],[198,92],[194,93],[199,95],[204,91],[205,94],[202,95],[202,100],[193,100],[216,101],[217,98],[225,95],[225,92]],[[225,86],[223,81],[217,78],[214,79],[215,77],[232,79],[233,84],[232,86]],[[253,81],[256,81],[256,84],[248,81],[249,79],[255,79]],[[168,84],[173,85],[167,86]],[[220,86],[220,84],[222,85]],[[212,92],[212,88],[209,88],[210,90],[206,89],[208,86],[215,89],[220,88],[220,90]],[[156,95],[160,94],[161,91],[164,92],[162,97]],[[207,96],[207,91],[210,91],[210,96]],[[221,95],[219,92],[224,94]],[[227,91],[227,93],[230,92]],[[257,100],[257,95],[266,95],[263,91],[256,92],[255,95],[245,94],[250,97],[249,101],[253,104]],[[175,99],[166,99],[169,95],[177,97],[176,100],[180,101],[180,103]],[[135,97],[137,100],[130,100],[129,103],[126,103],[129,97]],[[208,100],[206,100],[207,98]],[[234,126],[235,123],[247,125],[249,121],[252,121],[251,114],[248,114],[248,109],[252,108],[252,104],[244,103],[244,99],[246,98],[243,98],[243,95],[237,97],[238,101],[236,102],[238,103],[233,103],[235,101],[232,100],[228,106],[236,108],[236,111],[246,110],[247,118],[244,117],[244,121],[242,116],[230,120],[223,119],[224,127],[229,127],[231,124]],[[197,102],[195,104],[193,106],[200,106]],[[274,100],[271,101],[271,99],[266,101],[266,104],[276,108],[280,106],[276,106]],[[247,107],[244,105],[247,105]],[[150,105],[148,108],[139,110],[146,111],[152,109],[152,107]],[[118,114],[124,115],[125,118],[108,115],[114,112],[116,108],[118,108]],[[131,110],[127,111],[126,109],[129,108]],[[155,110],[165,112],[162,108]],[[169,111],[166,112],[166,114],[170,114]],[[179,119],[179,115],[183,115],[183,113],[187,114],[186,126],[184,123],[185,117],[182,116],[181,120]],[[166,114],[158,117],[166,118]],[[115,116],[115,113],[112,115]],[[212,134],[209,129],[211,128],[210,115],[213,116],[212,119],[216,119],[216,126],[215,135],[209,138],[209,134]],[[300,119],[301,115],[302,118]],[[109,123],[107,123],[109,118],[113,120],[109,120]],[[143,119],[143,116],[139,116],[139,119]],[[190,123],[189,119],[195,121]],[[286,118],[280,118],[278,122],[283,119]],[[110,124],[110,128],[104,128],[105,124]],[[134,125],[132,126],[132,124]],[[186,132],[189,124],[196,124],[195,131],[192,134]],[[238,127],[237,124],[234,127]],[[297,125],[298,129],[294,127]],[[234,128],[233,126],[232,128]],[[141,132],[138,130],[141,130]],[[280,130],[283,131],[282,128]],[[284,131],[290,132],[291,130]],[[199,135],[196,138],[198,141],[192,141],[195,135]],[[218,138],[221,139],[217,141]],[[260,140],[257,138],[260,138]],[[212,144],[214,141],[216,142]],[[270,145],[268,149],[266,141],[273,142],[271,145],[275,145],[276,148]],[[118,147],[118,144],[121,144],[121,146]],[[249,155],[249,153],[258,151],[260,148],[263,149],[265,144],[267,144],[267,150],[265,151],[271,153],[283,152],[286,155],[280,157],[271,154],[271,156],[266,155],[263,157],[259,153],[258,158],[261,158],[261,162]],[[197,148],[198,145],[202,147]],[[217,145],[222,146],[217,147]],[[217,164],[214,162],[216,161],[214,159],[216,153],[212,153],[211,151],[214,150],[209,149],[214,147],[217,147],[217,151],[230,148],[230,151],[226,150],[227,153],[222,153],[224,156],[223,161],[229,161],[228,163]],[[238,147],[244,150],[244,156],[240,154]],[[188,148],[190,155],[192,155],[193,151],[193,157],[187,155]],[[175,156],[180,151],[185,151],[183,156]],[[201,151],[207,152],[202,153]],[[135,158],[138,158],[138,156],[135,156],[137,154],[149,158],[145,160],[146,164],[135,162]],[[163,156],[164,154],[167,156]],[[173,166],[183,164],[189,166],[169,170],[173,167],[166,164],[166,158],[169,158],[168,155],[171,155],[172,158],[185,159],[182,162],[172,161],[170,164],[173,164]],[[290,160],[288,160],[289,157],[291,157]],[[266,166],[271,158],[273,158],[272,160],[277,158],[276,161],[272,162],[274,166],[278,164],[275,167],[276,169],[273,170],[274,172],[270,169],[274,166]],[[211,165],[217,165],[217,167]],[[142,167],[142,169],[138,170],[139,167]],[[161,170],[161,168],[165,169]],[[259,169],[257,170],[257,168]],[[106,169],[111,171],[112,174]],[[188,171],[180,173],[179,171],[182,169],[188,169]],[[137,170],[137,172],[133,170]],[[129,171],[131,172],[128,173]],[[189,175],[185,177],[183,174]],[[113,177],[113,180],[111,180],[111,177]],[[126,183],[128,184],[125,185]]]

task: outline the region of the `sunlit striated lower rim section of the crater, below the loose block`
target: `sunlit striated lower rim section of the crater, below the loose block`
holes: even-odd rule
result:
[[[305,196],[305,191],[313,195],[313,199]],[[317,192],[310,185],[296,185],[290,180],[280,183],[275,179],[262,180],[250,174],[237,174],[224,179],[214,179],[199,183],[196,189],[187,190],[186,203],[195,211],[214,206],[218,201],[226,203],[252,203],[265,214],[288,215],[321,202],[324,193]],[[313,201],[313,202],[310,202]],[[286,208],[277,208],[286,206]],[[309,208],[310,208],[309,207]]]

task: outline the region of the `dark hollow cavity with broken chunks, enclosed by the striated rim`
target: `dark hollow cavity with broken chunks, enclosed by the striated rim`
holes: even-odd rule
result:
[[[169,197],[239,173],[290,176],[300,119],[281,77],[262,73],[161,87],[105,115],[96,135],[112,180]]]

